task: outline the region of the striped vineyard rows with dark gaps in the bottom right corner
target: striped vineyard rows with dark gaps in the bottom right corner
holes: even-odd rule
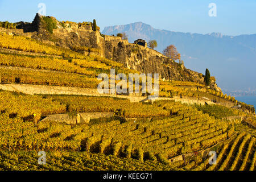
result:
[[[219,144],[217,147],[216,164],[210,165],[204,160],[196,167],[196,162],[187,164],[187,169],[207,171],[254,171],[255,170],[255,137],[246,132],[240,133],[228,142]]]

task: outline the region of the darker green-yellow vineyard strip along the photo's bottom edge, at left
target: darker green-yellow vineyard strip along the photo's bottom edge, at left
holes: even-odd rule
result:
[[[94,154],[90,152],[51,151],[47,155],[47,164],[38,165],[38,152],[36,151],[0,151],[0,163],[3,170],[74,170],[74,171],[102,171],[102,170],[175,170],[179,162],[165,165],[156,160],[141,162],[132,158],[118,158],[114,155]],[[3,160],[5,159],[5,160]],[[15,165],[19,163],[19,165]]]

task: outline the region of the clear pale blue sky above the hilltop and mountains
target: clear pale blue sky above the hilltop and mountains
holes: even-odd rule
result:
[[[38,4],[46,4],[46,15],[73,22],[97,20],[105,26],[144,22],[154,28],[224,35],[256,34],[256,0],[194,1],[7,1],[0,0],[0,21],[32,22]],[[217,16],[210,17],[209,3],[216,3]]]

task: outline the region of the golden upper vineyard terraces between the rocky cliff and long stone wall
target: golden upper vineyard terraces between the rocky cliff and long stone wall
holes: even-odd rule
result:
[[[0,71],[3,83],[97,88],[97,75],[99,73],[109,75],[110,68],[115,68],[116,73],[125,73],[126,75],[138,73],[132,69],[124,68],[121,63],[112,60],[96,55],[85,56],[79,52],[71,51],[71,49],[49,46],[22,36],[1,33],[0,48],[31,53],[31,55],[27,55],[22,54],[22,52],[5,52],[5,50],[0,53],[0,65],[2,65]],[[40,53],[42,56],[36,56],[33,53]],[[159,89],[160,97],[208,97],[211,100],[218,98],[217,100],[222,102],[234,101],[234,98],[207,89],[197,82],[160,81]]]

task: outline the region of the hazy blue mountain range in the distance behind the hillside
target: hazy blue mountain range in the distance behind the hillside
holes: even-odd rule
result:
[[[223,89],[256,88],[256,34],[191,34],[159,30],[142,22],[105,27],[102,34],[116,35],[119,32],[126,32],[129,42],[138,38],[147,42],[155,39],[159,52],[174,44],[187,68],[202,73],[208,68],[211,75],[216,76],[218,86]]]

